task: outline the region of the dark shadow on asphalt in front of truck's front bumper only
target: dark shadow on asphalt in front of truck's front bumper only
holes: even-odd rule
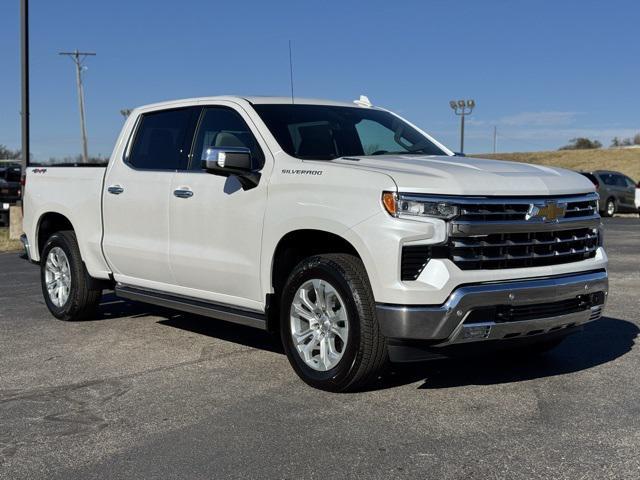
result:
[[[603,317],[544,354],[519,356],[516,350],[394,365],[376,387],[389,388],[422,381],[418,388],[443,389],[521,382],[579,372],[631,351],[639,332],[632,322]]]

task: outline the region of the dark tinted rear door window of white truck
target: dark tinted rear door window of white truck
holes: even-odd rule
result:
[[[144,170],[178,170],[191,113],[181,108],[143,114],[127,162]]]

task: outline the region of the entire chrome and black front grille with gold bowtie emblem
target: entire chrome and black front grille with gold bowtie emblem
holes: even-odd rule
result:
[[[459,208],[448,241],[404,246],[404,281],[416,280],[431,258],[447,258],[461,270],[540,267],[593,258],[600,244],[595,193],[443,199]]]

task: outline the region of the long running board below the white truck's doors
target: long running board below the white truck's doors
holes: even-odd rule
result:
[[[267,329],[267,317],[264,313],[260,312],[242,310],[228,305],[220,305],[195,298],[171,295],[155,290],[145,290],[125,285],[116,285],[115,294],[118,297],[129,300],[173,308],[196,315],[204,315],[206,317],[239,323],[240,325],[259,328],[261,330]]]

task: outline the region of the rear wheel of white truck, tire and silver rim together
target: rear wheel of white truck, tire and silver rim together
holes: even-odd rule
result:
[[[45,243],[40,281],[49,311],[61,320],[91,318],[102,296],[82,262],[75,233],[69,230],[54,233]]]

